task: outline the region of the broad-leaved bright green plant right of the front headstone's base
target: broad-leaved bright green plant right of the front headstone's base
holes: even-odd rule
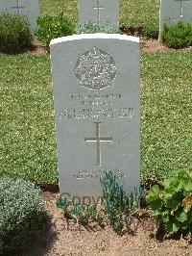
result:
[[[156,232],[169,234],[192,232],[192,172],[180,170],[155,185],[147,202],[156,217]]]

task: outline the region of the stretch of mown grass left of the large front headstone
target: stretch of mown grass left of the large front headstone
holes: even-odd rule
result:
[[[57,180],[50,64],[47,56],[0,55],[0,175]]]

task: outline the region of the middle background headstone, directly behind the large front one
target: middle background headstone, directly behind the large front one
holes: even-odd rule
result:
[[[119,0],[78,0],[80,23],[119,24]]]

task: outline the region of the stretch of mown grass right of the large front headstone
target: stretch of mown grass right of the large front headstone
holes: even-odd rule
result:
[[[192,167],[192,52],[142,56],[142,177]]]

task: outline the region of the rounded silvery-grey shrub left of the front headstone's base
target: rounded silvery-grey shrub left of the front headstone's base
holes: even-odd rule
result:
[[[31,182],[0,180],[0,254],[24,248],[45,218],[40,190]]]

